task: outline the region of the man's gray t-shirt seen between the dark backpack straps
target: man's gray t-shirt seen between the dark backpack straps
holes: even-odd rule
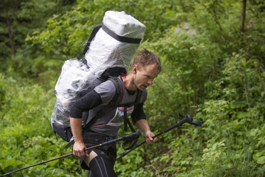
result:
[[[118,77],[121,79],[121,77]],[[89,122],[97,112],[105,107],[114,97],[115,95],[115,85],[112,81],[107,80],[102,84],[98,85],[94,89],[97,92],[101,99],[102,104],[89,110],[89,116],[87,122]],[[123,84],[123,96],[121,100],[121,104],[131,103],[134,102],[137,96],[137,91],[133,95],[129,95],[124,84]],[[142,91],[142,95],[140,98],[139,103],[143,103],[147,100],[147,90]],[[129,117],[134,110],[134,106],[127,108],[127,116]],[[124,107],[116,107],[110,112],[104,114],[101,118],[99,118],[91,127],[90,129],[95,132],[100,132],[105,135],[117,135],[118,129],[124,124]]]

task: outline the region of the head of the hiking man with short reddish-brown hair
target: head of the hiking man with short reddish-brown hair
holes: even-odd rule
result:
[[[153,52],[142,49],[134,57],[131,73],[134,85],[141,91],[153,84],[153,80],[161,72],[160,58]]]

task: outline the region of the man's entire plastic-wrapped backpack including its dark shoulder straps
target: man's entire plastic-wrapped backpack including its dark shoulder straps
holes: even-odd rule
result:
[[[138,94],[137,94],[137,98],[135,102],[129,103],[126,105],[119,104],[119,102],[121,101],[122,93],[123,93],[123,85],[122,85],[123,83],[121,80],[117,78],[117,76],[120,73],[124,73],[124,74],[127,73],[126,68],[128,68],[128,64],[126,65],[124,63],[126,62],[128,63],[128,60],[129,60],[128,58],[130,58],[131,60],[132,56],[135,54],[139,46],[139,43],[141,41],[141,39],[139,39],[138,37],[141,36],[142,38],[143,33],[145,31],[145,26],[142,25],[141,23],[139,25],[138,20],[137,20],[138,22],[135,21],[136,20],[135,18],[133,18],[130,15],[127,15],[125,12],[107,11],[105,13],[105,16],[106,16],[106,19],[105,20],[103,19],[103,24],[99,24],[94,27],[88,41],[86,42],[86,46],[83,51],[83,54],[85,55],[85,57],[83,57],[81,60],[74,58],[74,59],[65,61],[62,67],[62,73],[55,86],[54,93],[57,97],[57,100],[56,100],[52,118],[51,118],[51,125],[53,127],[55,134],[59,135],[66,142],[71,141],[71,144],[74,144],[73,143],[74,141],[72,141],[73,134],[71,133],[71,129],[69,125],[70,106],[76,100],[80,99],[81,97],[83,97],[84,95],[92,91],[95,86],[109,79],[115,85],[115,88],[116,88],[115,96],[110,101],[110,103],[107,106],[103,107],[98,112],[97,116],[92,118],[92,120],[89,121],[87,124],[86,124],[86,120],[88,118],[88,112],[83,113],[82,131],[87,130],[95,121],[97,121],[97,119],[99,119],[101,116],[109,112],[114,107],[124,107],[124,106],[129,107],[129,106],[135,105],[135,108],[136,108],[137,104],[139,103],[140,97],[141,97],[141,91],[138,90]],[[139,33],[141,35],[138,34],[136,35],[135,38],[132,38],[130,34],[129,34],[130,37],[126,37],[126,35],[121,36],[121,35],[116,34],[117,32],[114,32],[113,29],[112,29],[113,31],[111,30],[111,25],[113,23],[119,23],[118,21],[119,18],[122,18],[123,16],[125,16],[126,20],[131,19],[131,21],[128,20],[127,22],[128,24],[130,23],[132,24],[131,25],[132,29],[133,28],[135,29],[136,27],[140,28]],[[112,17],[114,20],[113,19],[109,20]],[[108,20],[111,22],[109,23]],[[128,28],[128,26],[130,27],[130,25],[128,24],[125,25],[126,28]],[[117,28],[117,26],[115,26],[115,28]],[[124,31],[128,33],[128,29]],[[132,31],[134,35],[137,32],[137,31],[135,32],[135,30],[132,30]],[[118,33],[122,34],[121,31],[118,31]],[[105,36],[101,36],[101,35],[105,35]],[[95,55],[97,55],[99,52],[97,53],[94,52],[94,49],[97,49],[97,47],[101,48],[100,46],[101,43],[97,43],[98,38],[103,38],[104,40],[105,39],[107,40],[107,38],[109,38],[109,40],[106,42],[109,45],[109,47],[106,48],[106,51],[108,51],[109,48],[113,46],[113,49],[110,50],[110,55],[105,57],[105,58],[108,58],[107,60],[108,62],[104,61],[103,64],[98,64],[98,60],[97,60],[98,56],[95,56]],[[105,46],[106,43],[104,43],[103,46]],[[124,55],[124,53],[128,52],[128,49],[131,49],[129,47],[132,48],[132,51],[130,51],[129,55]],[[91,63],[91,60],[87,60],[87,58],[91,59],[93,57],[97,58],[95,59],[95,61],[97,62]],[[116,59],[116,63],[113,62],[115,61],[115,59]],[[126,61],[123,61],[123,59]],[[96,67],[94,67],[95,65]],[[103,68],[102,65],[106,65],[107,67]],[[127,124],[130,126],[132,131],[135,131],[132,128],[130,121],[127,120],[127,112],[125,111],[124,112],[124,128],[126,131],[127,131]],[[71,144],[68,144],[66,148],[69,147]]]

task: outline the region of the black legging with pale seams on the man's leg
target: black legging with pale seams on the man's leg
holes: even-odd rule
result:
[[[114,171],[114,164],[106,158],[97,156],[93,158],[89,163],[90,170],[88,171],[88,177],[117,177]]]

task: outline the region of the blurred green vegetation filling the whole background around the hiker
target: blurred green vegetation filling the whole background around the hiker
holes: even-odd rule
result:
[[[3,0],[0,174],[71,152],[50,126],[53,89],[107,10],[146,25],[139,49],[162,60],[144,105],[151,129],[158,134],[179,113],[204,123],[132,151],[116,162],[118,176],[265,176],[263,0]],[[67,157],[10,176],[86,173]]]

